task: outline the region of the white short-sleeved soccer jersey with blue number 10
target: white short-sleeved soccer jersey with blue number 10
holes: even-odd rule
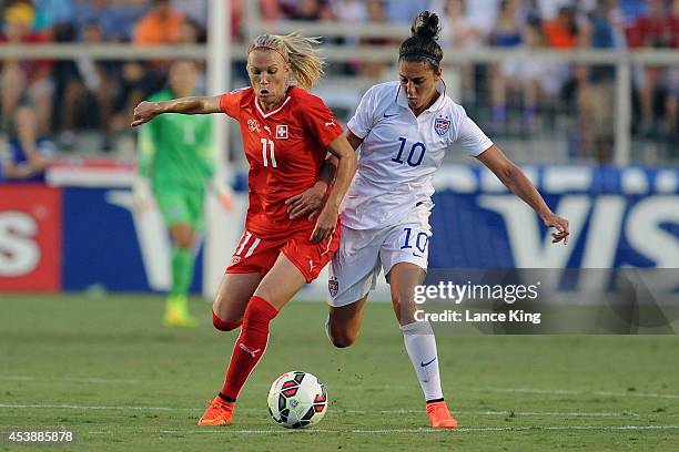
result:
[[[396,224],[418,203],[430,204],[434,173],[446,150],[459,143],[477,156],[493,142],[445,94],[415,116],[399,82],[371,88],[347,127],[363,138],[358,171],[344,197],[342,223],[353,229]]]

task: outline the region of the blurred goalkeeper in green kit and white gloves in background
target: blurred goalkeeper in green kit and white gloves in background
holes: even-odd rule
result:
[[[153,95],[160,102],[194,95],[196,64],[182,60],[172,64],[169,88]],[[204,227],[206,189],[215,191],[226,209],[231,198],[214,179],[216,147],[211,119],[206,115],[164,114],[141,127],[139,177],[134,185],[138,206],[149,206],[151,191],[172,237],[172,287],[163,322],[168,327],[197,325],[188,308],[193,279],[195,244]]]

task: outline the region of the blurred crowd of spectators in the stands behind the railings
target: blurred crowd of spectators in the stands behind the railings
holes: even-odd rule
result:
[[[243,40],[246,1],[232,0],[233,38]],[[440,43],[455,49],[678,49],[679,0],[259,0],[261,20],[409,22],[429,9],[442,17]],[[207,0],[4,0],[0,45],[79,42],[135,45],[190,44],[206,40]],[[334,44],[384,45],[393,39],[330,38]],[[398,40],[395,42],[398,43]],[[395,58],[394,58],[395,59]],[[32,127],[68,148],[83,129],[126,130],[135,103],[165,83],[158,62],[0,61],[6,135]],[[456,64],[459,102],[480,115],[489,133],[548,130],[544,112],[571,109],[581,150],[610,157],[615,68],[535,61],[526,64]],[[384,80],[385,64],[349,62],[330,74]],[[679,64],[637,66],[634,78],[636,136],[677,138]],[[485,109],[485,110],[484,110]],[[105,145],[105,142],[104,142]]]

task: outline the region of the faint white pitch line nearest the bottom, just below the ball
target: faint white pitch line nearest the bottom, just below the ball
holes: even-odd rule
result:
[[[161,430],[162,434],[285,434],[292,432],[305,433],[443,433],[455,434],[456,432],[521,432],[521,431],[569,431],[569,430],[600,430],[600,431],[652,431],[652,430],[678,430],[679,425],[525,425],[525,427],[462,427],[453,431],[447,429],[302,429],[302,430],[232,430],[225,429],[201,429],[201,430]],[[94,432],[92,432],[94,433]],[[99,432],[97,432],[99,433]]]

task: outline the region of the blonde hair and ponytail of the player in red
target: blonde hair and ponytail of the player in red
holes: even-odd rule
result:
[[[297,33],[285,35],[261,34],[250,47],[250,52],[257,48],[271,49],[290,62],[295,82],[310,90],[322,76],[324,59],[318,54],[318,38],[306,38]]]

